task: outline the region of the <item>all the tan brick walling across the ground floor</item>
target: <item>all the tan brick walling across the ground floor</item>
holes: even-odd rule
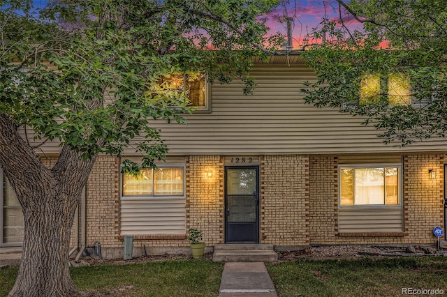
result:
[[[261,243],[405,244],[435,243],[444,227],[444,155],[403,158],[404,232],[339,234],[335,156],[261,156]],[[202,229],[207,246],[224,241],[224,160],[219,155],[186,157],[185,236],[135,236],[135,247],[187,247],[186,231]],[[428,169],[437,178],[428,178]],[[211,176],[208,175],[211,172]],[[379,236],[380,235],[380,236]],[[87,183],[87,245],[122,248],[119,236],[119,160],[100,156]]]

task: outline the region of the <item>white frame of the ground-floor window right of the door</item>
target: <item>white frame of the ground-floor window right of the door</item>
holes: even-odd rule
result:
[[[362,204],[362,205],[342,205],[341,204],[341,198],[342,198],[342,183],[341,181],[341,168],[345,167],[352,167],[354,169],[356,168],[386,168],[386,167],[397,167],[399,168],[400,176],[398,179],[399,183],[399,204],[395,205],[387,205],[387,204]],[[383,208],[395,208],[395,209],[402,209],[403,207],[403,201],[404,201],[404,174],[403,174],[403,166],[402,164],[396,164],[396,163],[386,163],[386,164],[343,164],[338,165],[338,189],[337,189],[337,200],[338,200],[338,208],[339,209],[383,209]]]

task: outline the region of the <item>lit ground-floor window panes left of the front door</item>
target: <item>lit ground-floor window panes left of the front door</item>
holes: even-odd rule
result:
[[[184,197],[184,167],[143,168],[122,175],[123,197]]]

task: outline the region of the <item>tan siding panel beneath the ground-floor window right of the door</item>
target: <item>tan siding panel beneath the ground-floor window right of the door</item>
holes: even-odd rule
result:
[[[402,208],[340,209],[338,227],[340,233],[402,232]]]

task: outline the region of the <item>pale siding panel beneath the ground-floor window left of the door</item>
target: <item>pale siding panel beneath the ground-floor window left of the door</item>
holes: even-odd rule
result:
[[[121,235],[184,235],[185,199],[147,198],[120,201]]]

